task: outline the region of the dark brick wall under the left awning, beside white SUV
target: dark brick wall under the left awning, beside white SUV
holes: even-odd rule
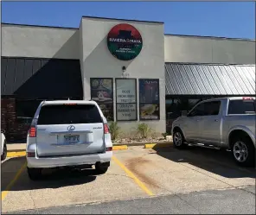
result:
[[[1,99],[1,129],[7,142],[26,142],[29,124],[16,120],[16,99]]]

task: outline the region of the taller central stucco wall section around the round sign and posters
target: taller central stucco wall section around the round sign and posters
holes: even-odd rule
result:
[[[134,60],[118,60],[109,52],[106,35],[110,29],[118,23],[116,20],[104,20],[83,18],[80,30],[82,30],[83,56],[80,58],[81,73],[83,73],[84,98],[90,99],[90,78],[122,78],[122,67],[126,67],[125,73],[131,79],[159,79],[160,85],[160,120],[146,121],[158,133],[165,130],[165,79],[164,79],[164,36],[163,23],[154,22],[125,22],[138,29],[143,38],[143,47]],[[91,30],[88,30],[91,29]],[[138,84],[138,82],[137,82]],[[113,82],[114,104],[116,102],[116,86]],[[138,89],[138,86],[137,86]],[[137,90],[137,111],[138,107]],[[114,105],[114,113],[116,106]],[[114,119],[116,114],[114,114]],[[119,122],[123,130],[131,130],[136,123]]]

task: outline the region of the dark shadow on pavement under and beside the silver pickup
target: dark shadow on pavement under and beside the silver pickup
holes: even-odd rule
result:
[[[157,155],[169,159],[189,168],[201,168],[225,178],[256,178],[255,168],[239,167],[230,151],[190,147],[188,149],[156,148]],[[189,166],[189,165],[192,166]]]

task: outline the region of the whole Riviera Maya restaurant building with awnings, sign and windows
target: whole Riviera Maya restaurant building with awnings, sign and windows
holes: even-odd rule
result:
[[[83,16],[79,28],[2,23],[1,125],[23,142],[44,99],[93,99],[130,136],[205,98],[255,94],[255,41],[164,35],[163,22]]]

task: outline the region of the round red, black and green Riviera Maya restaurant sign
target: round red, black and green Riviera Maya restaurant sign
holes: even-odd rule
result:
[[[142,49],[142,37],[133,26],[118,24],[107,35],[107,47],[118,60],[132,60]]]

